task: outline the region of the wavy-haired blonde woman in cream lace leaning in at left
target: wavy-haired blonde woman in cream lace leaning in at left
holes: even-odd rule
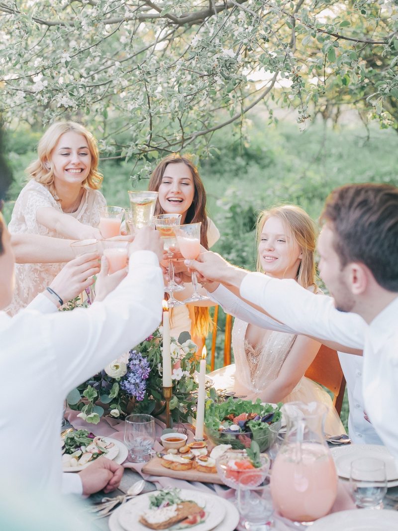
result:
[[[30,180],[15,202],[8,225],[11,234],[101,238],[98,207],[106,201],[99,192],[102,175],[98,172],[97,141],[85,127],[74,122],[51,125],[27,173]],[[68,259],[70,256],[65,256],[65,261]],[[63,263],[16,264],[16,286],[8,313],[14,315],[29,304],[62,267]]]

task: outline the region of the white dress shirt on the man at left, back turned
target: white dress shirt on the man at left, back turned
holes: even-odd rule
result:
[[[60,492],[67,393],[150,335],[161,319],[163,288],[157,256],[136,251],[126,278],[89,309],[57,312],[39,296],[13,318],[0,312],[2,478]]]

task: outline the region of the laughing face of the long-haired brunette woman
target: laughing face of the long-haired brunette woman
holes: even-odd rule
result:
[[[166,214],[181,214],[181,225],[194,200],[195,185],[189,167],[184,162],[170,162],[159,186],[159,204]]]

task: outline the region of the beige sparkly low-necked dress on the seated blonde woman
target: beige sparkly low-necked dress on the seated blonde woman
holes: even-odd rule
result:
[[[255,400],[277,378],[297,336],[273,331],[264,346],[253,348],[246,340],[247,327],[248,323],[235,319],[232,329],[235,364],[213,371],[210,376],[216,389],[231,389],[237,395],[244,395],[247,400]],[[325,432],[345,433],[331,397],[314,381],[302,376],[297,386],[282,400],[292,401],[323,402],[328,408]]]

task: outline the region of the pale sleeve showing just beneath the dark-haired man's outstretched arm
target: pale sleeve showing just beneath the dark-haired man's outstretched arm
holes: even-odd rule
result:
[[[250,324],[255,324],[259,328],[266,328],[267,330],[275,330],[277,332],[296,333],[295,330],[285,326],[285,324],[274,321],[271,317],[256,310],[250,304],[243,301],[234,293],[230,292],[222,284],[212,293],[207,293],[212,301],[219,304],[224,312],[230,313],[234,317],[241,319]]]

